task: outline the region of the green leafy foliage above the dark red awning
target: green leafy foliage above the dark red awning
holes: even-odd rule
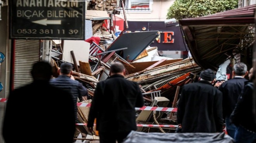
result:
[[[176,0],[168,9],[168,19],[215,14],[238,7],[238,0]]]

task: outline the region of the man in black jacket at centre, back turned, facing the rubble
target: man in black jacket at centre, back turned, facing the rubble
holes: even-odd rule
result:
[[[121,63],[111,65],[111,77],[97,84],[88,117],[87,127],[92,129],[97,119],[100,143],[121,143],[132,130],[137,129],[135,107],[144,100],[136,82],[124,78]]]

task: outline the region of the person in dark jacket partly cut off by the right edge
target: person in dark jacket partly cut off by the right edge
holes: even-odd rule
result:
[[[249,82],[239,96],[234,111],[230,116],[231,123],[237,126],[235,131],[236,143],[252,143],[256,140],[256,123],[253,118],[253,68],[249,72]]]

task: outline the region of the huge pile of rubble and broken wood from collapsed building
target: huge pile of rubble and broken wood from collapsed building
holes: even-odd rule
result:
[[[93,35],[85,40],[88,42],[85,45],[89,46],[84,48],[87,48],[88,52],[76,51],[76,48],[72,47],[74,52],[70,51],[69,54],[73,53],[73,56],[70,61],[66,61],[64,56],[71,55],[64,55],[62,52],[66,48],[65,41],[58,44],[55,43],[53,50],[55,54],[52,56],[52,65],[55,71],[54,77],[58,76],[57,69],[61,63],[72,63],[74,65],[73,76],[75,80],[81,82],[88,89],[88,100],[83,99],[82,102],[90,103],[97,83],[106,80],[109,77],[111,63],[119,61],[125,65],[125,78],[140,85],[146,106],[176,107],[179,89],[183,85],[193,82],[202,68],[192,58],[183,60],[160,57],[157,54],[157,47],[149,46],[158,37],[157,31],[121,32],[118,37],[115,37],[114,28],[111,27],[111,24],[110,29],[106,29],[102,25],[105,24],[104,20],[110,19],[106,14],[111,14],[111,10],[117,6],[117,3],[117,0],[91,0],[88,3],[87,15],[92,15],[86,20],[92,21],[92,30],[89,32],[92,32],[91,35]],[[97,12],[97,10],[101,11]],[[93,14],[101,14],[101,16],[93,16]],[[83,60],[80,58],[81,55]],[[84,59],[85,57],[86,59]],[[78,120],[80,123],[87,123],[88,112],[89,107],[78,107]],[[176,117],[175,112],[137,111],[137,122],[176,125]],[[144,132],[149,132],[149,129],[148,127],[138,128],[138,130]],[[156,127],[151,128],[150,132],[172,132],[173,129],[174,126],[170,128]],[[86,137],[87,134],[93,135],[93,140],[97,140],[98,133],[95,131],[95,127],[92,134],[89,133],[86,126],[76,127],[75,138],[81,140],[77,141],[78,143],[85,142],[82,139],[89,139],[89,136]],[[90,136],[91,138],[92,136]]]

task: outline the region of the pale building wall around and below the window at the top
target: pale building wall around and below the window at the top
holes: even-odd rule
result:
[[[126,17],[129,21],[164,21],[169,7],[175,0],[168,1],[153,1],[152,10],[145,11],[131,11],[126,10]],[[121,14],[123,17],[123,14]]]

